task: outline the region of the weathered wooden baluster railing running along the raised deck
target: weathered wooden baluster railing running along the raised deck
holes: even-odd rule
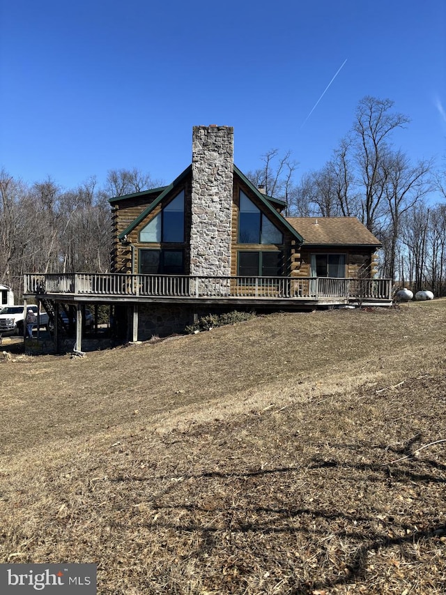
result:
[[[24,275],[24,294],[173,298],[385,299],[390,279],[325,277],[202,277],[126,273]]]

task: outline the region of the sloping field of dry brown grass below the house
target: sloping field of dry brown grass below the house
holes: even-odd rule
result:
[[[0,363],[0,562],[98,594],[446,593],[446,299]]]

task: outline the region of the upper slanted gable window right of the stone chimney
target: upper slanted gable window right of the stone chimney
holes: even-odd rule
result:
[[[261,210],[240,190],[238,242],[282,244],[284,236]]]

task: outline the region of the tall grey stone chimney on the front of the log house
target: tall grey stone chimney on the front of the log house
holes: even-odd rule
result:
[[[190,274],[231,275],[233,127],[192,129]]]

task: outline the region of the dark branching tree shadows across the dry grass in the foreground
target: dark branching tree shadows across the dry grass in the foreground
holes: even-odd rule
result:
[[[398,454],[405,453],[411,456],[410,449],[416,440],[411,440],[410,444],[405,444],[401,449],[395,449]],[[227,480],[234,481],[237,479],[245,480],[261,477],[274,477],[280,474],[302,474],[302,472],[317,472],[318,469],[345,469],[348,472],[347,478],[342,478],[347,481],[356,481],[357,473],[368,473],[367,481],[380,481],[387,483],[393,481],[397,483],[417,483],[417,484],[435,484],[446,483],[445,477],[436,477],[433,474],[416,472],[415,469],[410,469],[410,465],[416,464],[418,466],[431,467],[437,471],[443,471],[445,465],[429,459],[405,460],[405,467],[391,467],[390,465],[381,465],[377,463],[353,463],[340,462],[335,459],[321,460],[312,459],[312,462],[307,466],[302,467],[276,467],[274,469],[256,469],[245,472],[221,472],[221,471],[207,471],[201,474],[178,474],[178,476],[171,476],[171,480]],[[169,478],[163,478],[169,479]],[[332,480],[334,478],[331,478]],[[132,482],[132,481],[153,481],[152,478],[144,477],[125,477],[118,476],[115,482]],[[272,480],[271,480],[272,481]],[[322,580],[314,578],[313,580],[299,580],[297,577],[290,579],[292,582],[289,585],[289,592],[293,595],[309,595],[317,590],[334,589],[341,585],[354,584],[358,580],[365,580],[367,573],[368,555],[370,552],[378,552],[378,550],[385,550],[393,546],[403,546],[405,544],[415,545],[417,542],[424,540],[431,540],[446,534],[446,525],[436,522],[435,518],[431,518],[430,522],[426,522],[428,527],[424,529],[417,529],[413,522],[398,521],[394,515],[386,515],[380,521],[379,530],[373,529],[376,525],[376,511],[371,511],[370,514],[359,514],[356,511],[342,511],[336,509],[327,509],[320,507],[294,507],[294,506],[224,506],[218,498],[209,508],[206,504],[199,503],[166,503],[160,500],[169,497],[178,483],[175,485],[165,486],[162,492],[151,499],[151,506],[153,511],[157,513],[157,520],[154,522],[143,523],[146,529],[167,529],[178,534],[197,534],[201,546],[199,552],[194,552],[192,555],[206,555],[210,557],[215,553],[215,548],[219,547],[222,541],[222,532],[226,534],[229,543],[236,545],[236,535],[245,536],[249,543],[249,535],[252,536],[280,536],[280,535],[298,535],[304,536],[308,541],[313,543],[317,548],[323,548],[323,543],[327,538],[328,531],[339,540],[347,540],[353,550],[351,553],[345,552],[342,557],[342,566],[344,571],[337,572],[334,575],[333,569],[329,575]],[[223,492],[224,493],[224,492]],[[215,495],[214,495],[215,496]],[[260,494],[259,497],[262,497]],[[220,502],[220,504],[218,504]],[[217,503],[217,504],[215,504]],[[167,513],[169,511],[176,511],[175,517],[178,522],[167,522],[160,520],[158,514]],[[209,515],[212,516],[209,519]],[[169,515],[171,516],[171,515]],[[251,516],[252,521],[247,520],[246,517]],[[331,523],[329,529],[327,522]],[[360,527],[355,529],[355,525],[360,524]],[[423,519],[417,521],[418,527],[423,524]],[[319,525],[319,527],[317,526]],[[382,527],[382,528],[381,528]],[[335,568],[336,569],[336,566]],[[339,570],[339,568],[338,568]]]

